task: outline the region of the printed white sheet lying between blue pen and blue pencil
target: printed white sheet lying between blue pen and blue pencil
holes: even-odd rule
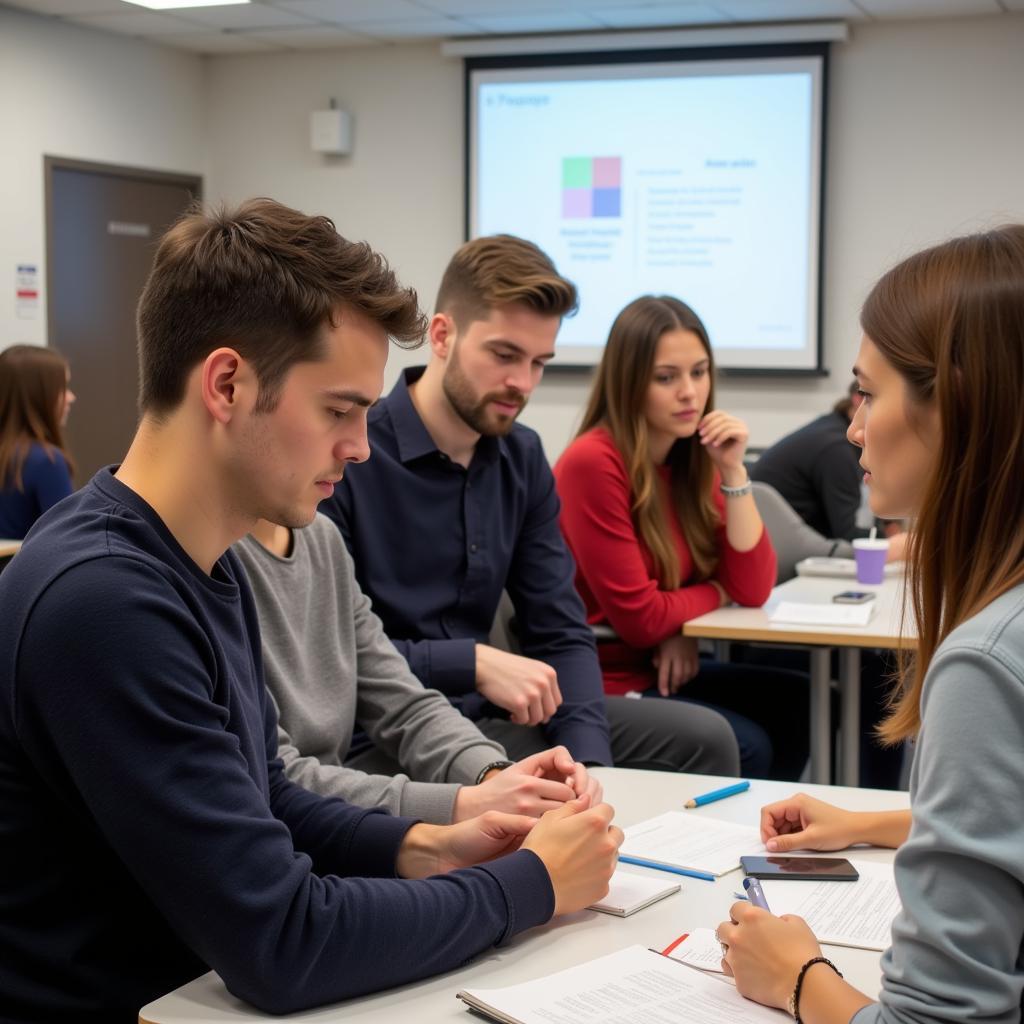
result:
[[[625,829],[620,854],[655,864],[707,871],[716,878],[739,867],[746,853],[764,850],[757,828],[685,811],[667,811]]]

